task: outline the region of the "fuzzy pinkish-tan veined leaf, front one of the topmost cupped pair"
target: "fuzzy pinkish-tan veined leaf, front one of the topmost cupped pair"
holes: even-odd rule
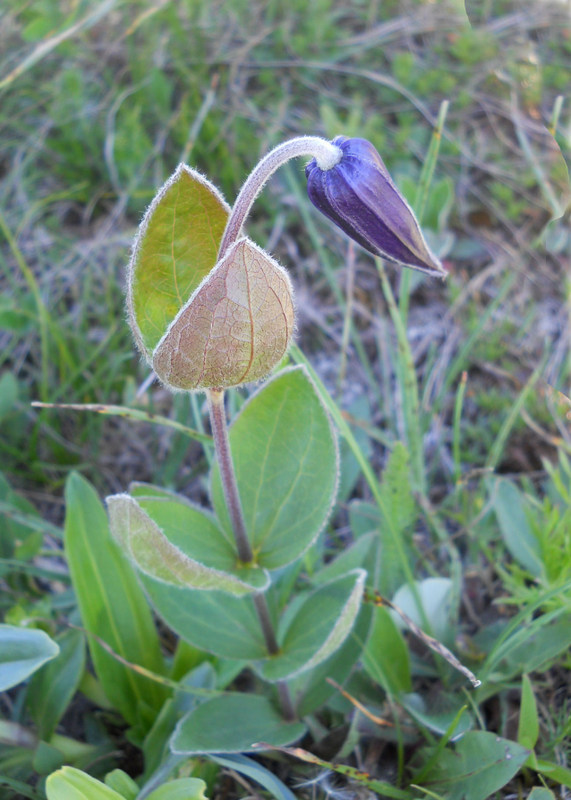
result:
[[[153,353],[153,368],[173,389],[255,381],[283,358],[293,325],[287,273],[240,239],[177,314]]]

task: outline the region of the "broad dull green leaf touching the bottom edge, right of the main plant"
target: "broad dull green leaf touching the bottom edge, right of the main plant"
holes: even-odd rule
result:
[[[529,750],[487,731],[470,731],[439,756],[423,786],[447,800],[485,800],[523,766]]]

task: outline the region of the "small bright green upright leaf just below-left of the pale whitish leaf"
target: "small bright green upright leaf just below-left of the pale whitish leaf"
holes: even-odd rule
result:
[[[363,652],[370,677],[391,695],[412,691],[408,647],[388,609],[374,610],[373,626]]]

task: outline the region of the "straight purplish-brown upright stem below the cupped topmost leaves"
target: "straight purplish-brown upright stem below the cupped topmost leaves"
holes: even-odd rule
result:
[[[212,438],[214,439],[214,448],[216,450],[216,458],[218,459],[218,467],[220,469],[222,490],[224,492],[228,513],[230,514],[230,522],[232,524],[232,531],[234,532],[238,558],[244,564],[251,564],[254,561],[254,553],[246,533],[244,512],[242,511],[238,484],[236,482],[236,473],[232,462],[232,453],[230,452],[226,411],[224,408],[224,390],[210,389],[207,394],[210,408]],[[272,624],[266,595],[256,593],[253,595],[253,601],[256,614],[260,621],[260,628],[262,630],[264,642],[266,643],[266,648],[268,653],[274,656],[279,653],[280,648]],[[284,717],[288,720],[294,719],[295,712],[289,689],[285,682],[281,681],[278,683],[278,693]]]

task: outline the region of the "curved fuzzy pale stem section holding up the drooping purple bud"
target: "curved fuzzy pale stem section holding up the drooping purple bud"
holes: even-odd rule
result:
[[[282,142],[264,156],[259,164],[250,173],[246,182],[240,189],[234,207],[228,218],[226,230],[220,242],[218,260],[224,256],[228,248],[234,244],[242,232],[242,226],[256,197],[274,172],[292,158],[299,156],[312,156],[323,170],[332,169],[339,163],[342,151],[339,147],[318,136],[299,136]]]

